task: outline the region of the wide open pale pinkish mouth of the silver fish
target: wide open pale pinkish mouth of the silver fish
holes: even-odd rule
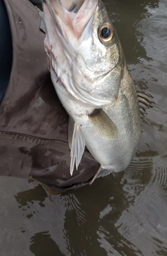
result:
[[[45,0],[49,13],[64,36],[79,39],[93,17],[98,0]]]

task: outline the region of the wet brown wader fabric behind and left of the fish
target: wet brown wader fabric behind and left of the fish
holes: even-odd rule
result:
[[[61,193],[86,185],[99,165],[85,152],[70,176],[67,113],[47,69],[38,10],[28,0],[5,0],[13,65],[0,105],[0,175],[32,176]]]

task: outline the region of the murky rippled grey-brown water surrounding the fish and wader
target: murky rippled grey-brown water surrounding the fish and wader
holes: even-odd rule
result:
[[[108,0],[129,70],[156,104],[127,171],[47,195],[0,178],[1,256],[167,255],[167,1]]]

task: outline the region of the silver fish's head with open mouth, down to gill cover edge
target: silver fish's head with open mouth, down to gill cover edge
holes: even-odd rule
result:
[[[43,9],[49,70],[82,105],[111,105],[125,58],[102,1],[45,0]]]

